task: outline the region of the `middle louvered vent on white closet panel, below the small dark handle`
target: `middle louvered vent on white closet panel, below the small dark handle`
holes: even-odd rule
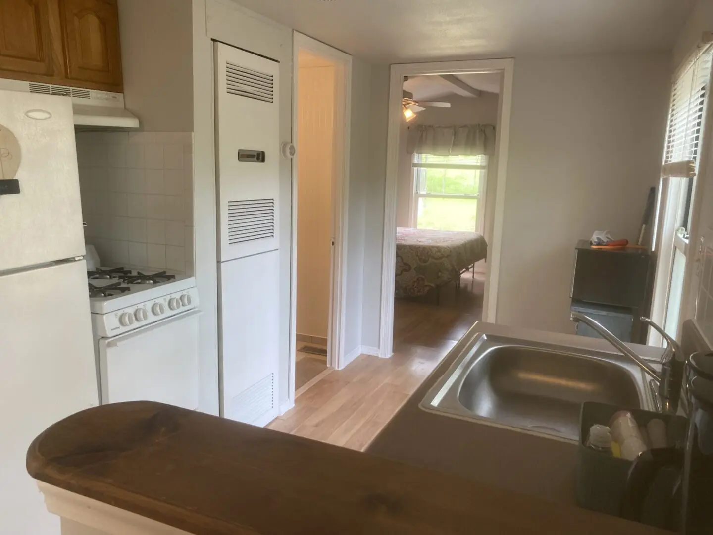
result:
[[[227,212],[230,245],[275,237],[275,199],[230,200]]]

